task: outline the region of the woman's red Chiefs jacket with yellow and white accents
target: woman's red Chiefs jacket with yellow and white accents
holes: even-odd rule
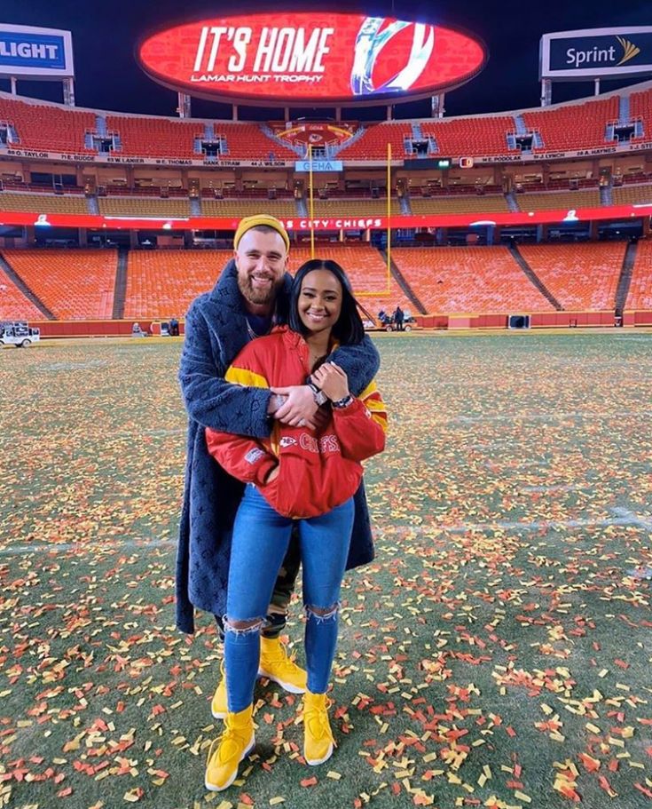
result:
[[[225,379],[237,385],[304,385],[310,373],[308,345],[287,326],[248,343]],[[320,432],[275,422],[271,437],[252,439],[207,427],[208,452],[234,478],[255,483],[279,514],[317,517],[353,496],[362,478],[361,461],[385,448],[387,412],[375,383],[347,408],[333,408]],[[264,480],[279,464],[279,474]]]

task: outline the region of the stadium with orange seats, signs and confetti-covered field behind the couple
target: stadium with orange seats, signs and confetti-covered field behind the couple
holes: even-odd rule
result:
[[[177,115],[77,106],[70,33],[0,25],[0,340],[27,329],[0,346],[0,806],[650,805],[652,28],[542,27],[540,106],[448,116],[490,48],[405,19],[163,18],[133,46]],[[430,115],[398,118],[414,99]],[[391,438],[338,750],[307,768],[299,702],[263,680],[223,801],[216,628],[174,628],[177,368],[262,212],[291,271],[350,275]],[[397,306],[410,334],[384,333]],[[287,631],[301,658],[298,601]]]

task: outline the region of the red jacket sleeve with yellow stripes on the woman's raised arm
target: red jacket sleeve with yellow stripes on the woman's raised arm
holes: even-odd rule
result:
[[[364,461],[382,452],[387,410],[375,382],[367,385],[348,408],[333,408],[333,424],[345,458]]]

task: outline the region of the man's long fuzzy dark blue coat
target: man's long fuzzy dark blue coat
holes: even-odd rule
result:
[[[286,275],[277,304],[281,317],[291,284]],[[270,392],[224,382],[226,369],[247,341],[237,270],[230,261],[215,288],[194,300],[185,320],[179,382],[188,412],[188,440],[177,550],[177,627],[184,632],[194,631],[193,607],[218,616],[226,611],[232,525],[244,488],[208,454],[204,428],[257,438],[271,430]],[[354,393],[365,389],[379,367],[378,352],[368,337],[361,345],[338,349],[335,359]],[[348,568],[373,559],[364,484],[355,504]]]

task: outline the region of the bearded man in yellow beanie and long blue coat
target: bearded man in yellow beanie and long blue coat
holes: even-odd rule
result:
[[[231,531],[243,485],[208,454],[205,427],[256,438],[271,432],[271,417],[286,424],[314,424],[321,392],[316,385],[276,391],[230,385],[224,373],[250,339],[267,334],[285,321],[288,291],[289,237],[278,219],[266,215],[242,219],[234,238],[232,260],[215,288],[192,303],[185,320],[185,342],[179,382],[188,412],[185,493],[177,552],[177,626],[194,631],[193,607],[216,616],[221,631],[226,610]],[[334,352],[350,387],[360,393],[373,379],[379,360],[368,338]],[[348,568],[373,559],[373,541],[365,490],[356,495],[356,521]],[[290,551],[272,597],[268,626],[261,638],[261,676],[287,691],[306,688],[305,671],[287,657],[279,635],[298,574],[299,559]],[[216,688],[213,715],[226,715],[224,678]]]

